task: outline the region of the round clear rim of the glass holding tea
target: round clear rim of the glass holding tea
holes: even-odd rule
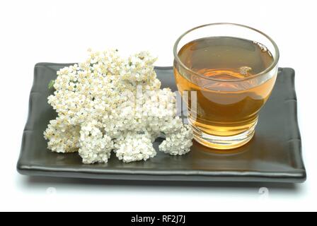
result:
[[[192,32],[193,30],[197,30],[199,28],[204,28],[204,27],[212,26],[212,25],[233,25],[233,26],[248,28],[250,30],[253,30],[255,32],[260,33],[260,35],[265,36],[273,44],[273,47],[275,49],[275,56],[276,56],[275,59],[273,60],[272,64],[270,64],[270,66],[268,66],[265,70],[260,71],[259,73],[256,73],[256,74],[254,74],[252,76],[248,76],[246,78],[236,78],[236,79],[231,79],[231,80],[225,80],[225,79],[219,79],[219,78],[209,78],[209,77],[206,77],[206,76],[204,76],[204,75],[202,75],[200,73],[192,71],[192,69],[189,69],[187,66],[185,66],[185,64],[183,64],[183,62],[178,57],[178,52],[177,52],[178,44],[179,44],[180,40],[182,40],[182,38],[185,35],[187,35],[188,33]],[[247,25],[241,25],[241,24],[238,24],[238,23],[207,23],[207,24],[200,25],[200,26],[197,26],[195,28],[192,28],[192,29],[184,32],[183,35],[180,35],[180,37],[178,37],[178,39],[176,40],[176,42],[174,44],[174,47],[173,47],[173,54],[174,54],[174,59],[176,61],[178,61],[180,66],[183,66],[183,68],[185,70],[187,70],[187,71],[190,71],[190,73],[194,73],[195,75],[200,76],[200,77],[202,77],[204,79],[208,79],[208,80],[212,80],[212,81],[224,81],[224,82],[244,81],[244,80],[248,80],[248,79],[251,79],[251,78],[258,77],[258,76],[262,76],[263,74],[265,74],[265,73],[271,71],[272,69],[274,69],[275,66],[277,65],[277,62],[279,61],[279,48],[277,47],[277,44],[272,40],[272,38],[270,36],[266,35],[264,32],[261,32],[260,30],[257,30],[255,28],[251,28],[251,27],[249,27]]]

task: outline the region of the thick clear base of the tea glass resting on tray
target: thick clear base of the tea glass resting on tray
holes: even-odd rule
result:
[[[196,126],[190,125],[194,133],[194,139],[198,143],[201,143],[208,148],[220,149],[220,150],[229,150],[233,148],[241,147],[250,141],[253,138],[255,131],[255,124],[250,127],[247,131],[239,133],[234,136],[214,136],[208,133],[200,131]]]

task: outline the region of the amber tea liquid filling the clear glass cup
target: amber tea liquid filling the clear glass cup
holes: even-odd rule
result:
[[[185,90],[196,91],[195,109],[192,107],[194,95],[186,99],[195,140],[218,149],[236,148],[248,142],[231,143],[228,147],[226,143],[206,143],[204,136],[221,140],[222,136],[254,133],[258,112],[270,96],[276,73],[252,76],[272,64],[272,54],[263,44],[251,40],[204,37],[185,44],[178,57],[190,69],[174,66],[178,90],[181,94]]]

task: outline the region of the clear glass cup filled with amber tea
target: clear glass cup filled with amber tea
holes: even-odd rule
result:
[[[275,42],[245,25],[212,23],[180,35],[173,52],[195,140],[216,149],[248,143],[275,84]]]

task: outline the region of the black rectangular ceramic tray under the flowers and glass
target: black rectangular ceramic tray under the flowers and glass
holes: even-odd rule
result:
[[[56,113],[47,104],[50,80],[58,69],[69,64],[35,65],[30,93],[28,121],[23,131],[18,172],[32,176],[81,177],[96,179],[304,182],[306,171],[301,157],[301,137],[296,118],[294,70],[279,69],[270,99],[260,112],[250,143],[226,154],[210,153],[194,143],[187,155],[158,152],[146,162],[123,163],[113,155],[107,164],[83,165],[77,153],[60,154],[47,150],[43,138]],[[156,67],[163,87],[176,90],[171,67]],[[157,148],[159,141],[154,143]]]

